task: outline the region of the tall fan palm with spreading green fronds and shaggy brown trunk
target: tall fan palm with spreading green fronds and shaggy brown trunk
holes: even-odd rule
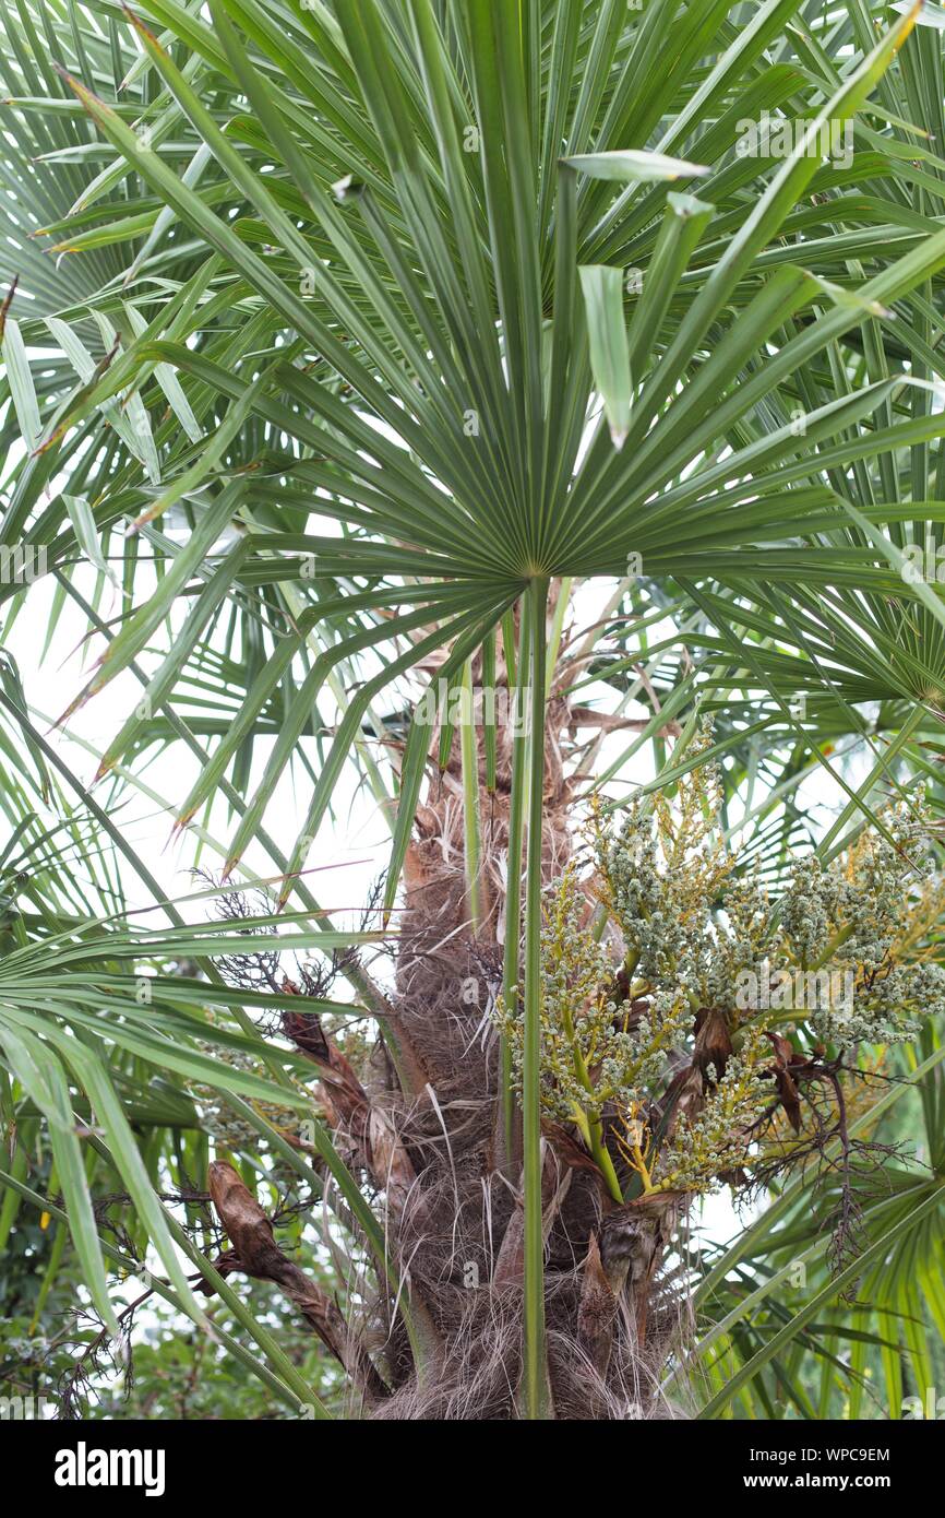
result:
[[[203,1327],[202,1278],[240,1327],[229,1351],[319,1415],[231,1275],[278,1284],[372,1416],[846,1397],[856,1413],[868,1354],[898,1415],[904,1366],[931,1384],[922,1304],[945,1331],[934,1023],[828,1131],[819,1181],[799,1169],[705,1257],[678,1233],[692,1172],[654,1186],[619,1102],[555,1108],[545,987],[558,909],[610,953],[616,1031],[655,1006],[652,978],[619,979],[636,949],[608,897],[607,817],[620,836],[631,792],[701,811],[721,764],[731,870],[774,897],[804,849],[828,867],[889,846],[889,791],[909,803],[924,779],[939,811],[943,14],[211,0],[209,17],[6,9],[5,636],[52,583],[50,644],[70,607],[97,654],[62,713],[12,657],[0,671],[11,1207],[68,1214],[112,1331],[106,1263],[150,1245],[149,1290]],[[127,716],[76,739],[96,750],[83,785],[47,720],[73,732],[106,688]],[[514,720],[464,721],[461,701],[451,718],[479,688]],[[173,802],[146,777],[159,753],[190,767]],[[352,771],[391,830],[356,931],[306,874]],[[827,827],[812,776],[840,797]],[[126,836],[137,795],[217,855],[187,903]],[[592,797],[593,885],[575,873]],[[165,926],[129,915],[130,880]],[[924,959],[934,931],[912,935]],[[387,940],[385,982],[366,955]],[[661,1132],[645,1114],[657,1148],[684,1081],[695,1122],[742,1060],[696,1011]],[[787,1113],[804,1061],[774,1047]],[[889,1158],[877,1198],[830,1146],[846,1155],[916,1084],[930,1169]],[[211,1107],[221,1249],[193,1186]],[[278,1196],[290,1175],[300,1207],[332,1211],[334,1255],[347,1245],[346,1313],[247,1184]],[[824,1222],[857,1187],[862,1258],[831,1266]],[[137,1213],[120,1236],[117,1192]],[[798,1264],[815,1284],[795,1307]]]

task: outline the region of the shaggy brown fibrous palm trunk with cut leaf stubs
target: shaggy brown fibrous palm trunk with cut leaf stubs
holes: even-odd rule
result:
[[[543,645],[543,636],[532,639],[538,660]],[[478,683],[479,662],[472,672]],[[496,679],[508,692],[502,659]],[[525,915],[531,914],[532,923],[542,887],[557,880],[572,856],[572,788],[563,753],[573,721],[567,697],[552,683],[529,803],[534,841],[528,861],[534,873]],[[505,937],[507,920],[519,920],[517,911],[507,911],[510,833],[513,853],[517,836],[514,742],[514,726],[499,726],[494,786],[488,786],[478,729],[481,838],[478,912],[472,917],[461,738],[454,735],[440,771],[434,735],[434,773],[405,862],[396,990],[388,1009],[413,1088],[405,1090],[390,1060],[356,1073],[314,1014],[305,1013],[302,999],[299,1014],[284,1019],[285,1032],[320,1067],[325,1110],[349,1163],[382,1196],[390,1252],[408,1283],[413,1309],[432,1330],[432,1353],[417,1365],[394,1319],[375,1365],[350,1342],[356,1334],[340,1334],[328,1302],[312,1301],[297,1274],[287,1278],[282,1258],[268,1261],[268,1278],[299,1302],[349,1371],[372,1418],[666,1416],[658,1378],[677,1315],[661,1292],[660,1264],[677,1219],[673,1198],[616,1202],[576,1132],[542,1119],[537,1069],[525,1072],[526,1093],[529,1078],[534,1081],[531,1105],[526,1101],[522,1113],[513,1099],[508,1122],[508,1063],[490,1008],[502,991],[504,970],[508,982],[516,962]],[[469,750],[466,757],[469,765]],[[532,1058],[540,1058],[540,967],[537,961],[525,965],[526,934],[522,940],[514,978],[522,979],[525,968],[525,997],[532,996]],[[537,937],[531,952],[537,955]],[[628,1172],[623,1179],[629,1181]],[[234,1227],[241,1219],[228,1216],[224,1192],[217,1175],[214,1199],[235,1240]],[[246,1205],[237,1186],[231,1184],[231,1193]],[[534,1266],[535,1254],[529,1228],[538,1231],[537,1315],[534,1281],[528,1302],[529,1257]],[[268,1237],[265,1242],[268,1258]],[[241,1252],[237,1246],[237,1255]],[[229,1268],[240,1266],[231,1261]],[[259,1260],[246,1268],[265,1274]],[[529,1312],[538,1322],[529,1322],[526,1333]]]

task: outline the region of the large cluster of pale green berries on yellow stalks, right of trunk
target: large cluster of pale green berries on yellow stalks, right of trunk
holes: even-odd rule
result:
[[[710,742],[704,726],[680,759]],[[798,861],[772,903],[737,873],[721,794],[696,762],[616,827],[596,812],[593,873],[572,864],[545,894],[542,1104],[576,1126],[617,1199],[749,1169],[781,1107],[802,1151],[805,1081],[822,1093],[856,1044],[903,1041],[945,1011],[945,882],[922,798],[833,862]],[[520,1081],[517,999],[494,1020]]]

